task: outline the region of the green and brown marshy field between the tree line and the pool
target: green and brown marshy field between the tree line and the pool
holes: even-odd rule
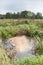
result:
[[[28,34],[30,36],[34,36],[39,35],[39,33],[43,35],[43,20],[0,20],[0,37],[9,38],[18,34]]]

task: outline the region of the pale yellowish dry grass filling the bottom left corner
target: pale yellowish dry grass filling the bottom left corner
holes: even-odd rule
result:
[[[0,47],[0,65],[11,65],[10,59],[6,55],[5,51]]]

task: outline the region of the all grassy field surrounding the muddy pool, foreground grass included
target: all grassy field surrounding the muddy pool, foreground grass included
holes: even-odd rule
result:
[[[6,40],[17,35],[26,35],[38,39],[39,44],[35,50],[43,54],[43,19],[0,19],[0,38]],[[0,45],[0,65],[14,65],[15,61],[7,56]],[[6,61],[5,61],[5,59]],[[7,60],[8,59],[8,60]],[[15,65],[43,65],[43,55],[28,57],[17,61]]]

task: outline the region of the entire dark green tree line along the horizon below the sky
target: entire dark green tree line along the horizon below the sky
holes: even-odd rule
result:
[[[18,19],[18,18],[27,18],[27,19],[43,19],[42,13],[37,12],[36,14],[31,11],[21,11],[17,13],[7,12],[6,14],[0,14],[0,19]]]

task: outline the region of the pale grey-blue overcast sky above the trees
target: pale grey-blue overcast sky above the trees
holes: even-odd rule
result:
[[[43,14],[43,0],[0,0],[0,14],[29,10]]]

